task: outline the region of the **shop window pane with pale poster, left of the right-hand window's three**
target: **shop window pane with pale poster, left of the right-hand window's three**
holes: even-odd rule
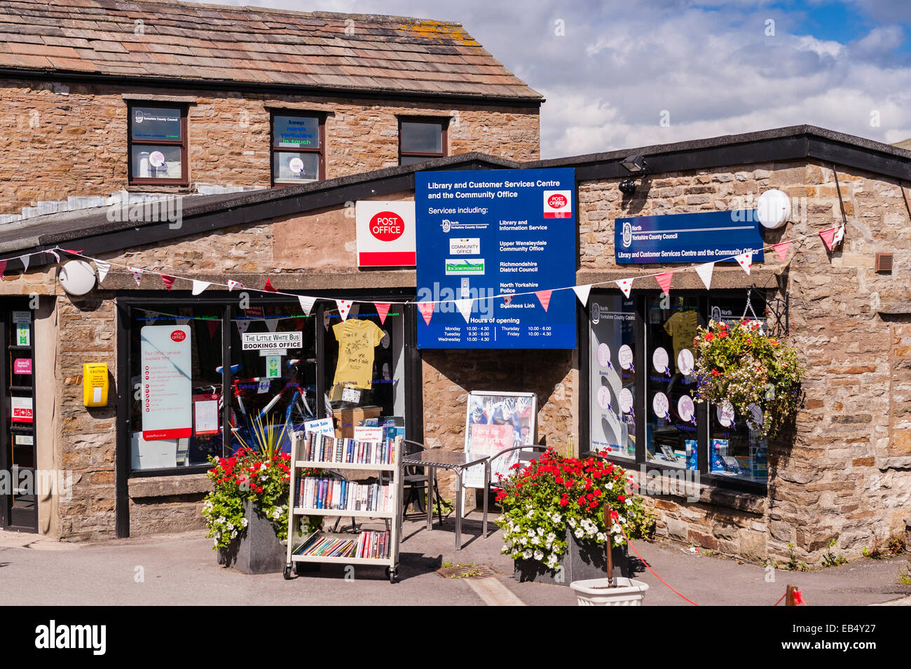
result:
[[[601,295],[589,308],[591,449],[636,457],[636,311],[632,299]]]

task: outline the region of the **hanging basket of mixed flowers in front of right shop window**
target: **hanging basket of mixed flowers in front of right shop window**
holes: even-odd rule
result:
[[[774,437],[800,404],[797,351],[763,333],[759,320],[709,321],[693,340],[696,401],[736,411],[763,439]]]

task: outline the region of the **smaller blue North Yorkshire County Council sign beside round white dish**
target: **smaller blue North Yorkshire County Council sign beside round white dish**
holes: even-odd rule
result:
[[[763,231],[755,210],[705,211],[618,218],[614,221],[614,258],[630,263],[701,263],[731,259],[752,250],[763,261]]]

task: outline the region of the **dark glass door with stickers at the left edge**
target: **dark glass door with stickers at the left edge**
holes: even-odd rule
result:
[[[18,307],[14,309],[10,307]],[[13,302],[3,313],[4,430],[0,465],[9,472],[0,490],[5,529],[38,531],[35,434],[35,328],[26,302]]]

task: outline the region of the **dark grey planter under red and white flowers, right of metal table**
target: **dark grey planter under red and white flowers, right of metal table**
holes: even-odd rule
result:
[[[514,560],[513,577],[520,582],[555,583],[568,585],[573,581],[605,578],[608,574],[608,560],[604,546],[592,542],[580,542],[568,533],[567,552],[560,558],[559,568],[548,569],[537,560]],[[627,547],[615,546],[611,556],[614,575],[630,577],[630,560]]]

